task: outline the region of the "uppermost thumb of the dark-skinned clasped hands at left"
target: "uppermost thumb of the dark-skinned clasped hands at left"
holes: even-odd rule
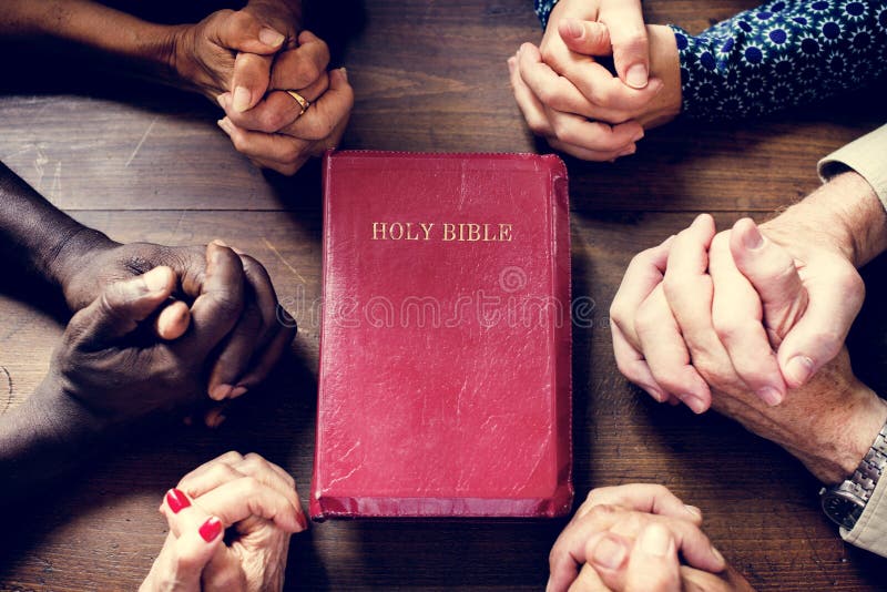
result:
[[[169,267],[155,267],[144,275],[105,287],[91,305],[74,315],[70,327],[81,343],[106,345],[135,330],[175,287]]]

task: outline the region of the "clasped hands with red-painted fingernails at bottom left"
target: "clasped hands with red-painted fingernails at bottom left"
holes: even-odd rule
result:
[[[160,511],[170,534],[143,592],[279,591],[289,537],[308,525],[293,478],[258,455],[234,451],[185,476]]]

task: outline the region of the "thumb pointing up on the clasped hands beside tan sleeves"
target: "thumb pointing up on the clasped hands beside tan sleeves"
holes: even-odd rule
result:
[[[761,297],[764,326],[771,341],[779,347],[785,336],[807,309],[807,290],[801,283],[794,258],[766,239],[751,218],[733,225],[730,252],[736,268]]]

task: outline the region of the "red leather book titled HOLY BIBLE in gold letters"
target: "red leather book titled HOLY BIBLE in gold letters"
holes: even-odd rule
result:
[[[570,510],[570,224],[553,155],[324,164],[314,519]]]

